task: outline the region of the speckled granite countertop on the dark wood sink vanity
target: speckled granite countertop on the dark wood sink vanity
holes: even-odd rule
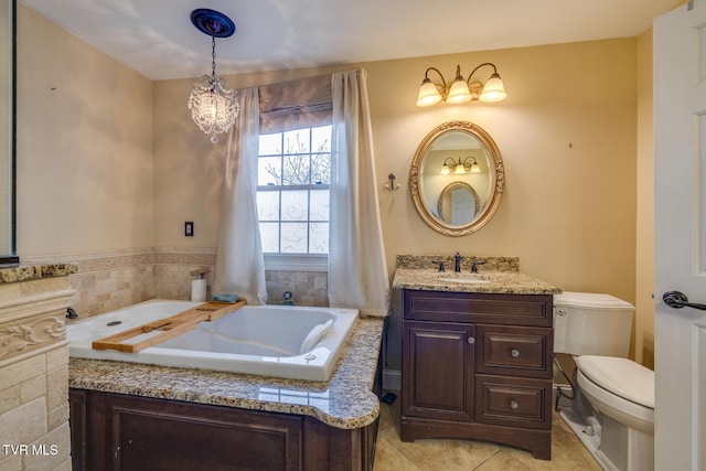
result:
[[[446,279],[440,279],[446,278]],[[452,279],[459,279],[459,282]],[[470,280],[471,282],[462,282]],[[477,282],[472,282],[477,281]],[[488,292],[502,295],[558,295],[561,290],[518,271],[439,272],[430,268],[397,268],[395,289],[425,291]]]

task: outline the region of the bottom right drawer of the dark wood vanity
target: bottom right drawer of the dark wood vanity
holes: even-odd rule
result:
[[[475,420],[510,427],[552,428],[552,382],[475,376]]]

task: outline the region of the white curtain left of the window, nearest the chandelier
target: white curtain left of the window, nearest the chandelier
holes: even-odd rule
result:
[[[264,304],[267,287],[256,202],[259,97],[257,88],[239,94],[240,114],[228,138],[213,292],[237,293],[249,304]]]

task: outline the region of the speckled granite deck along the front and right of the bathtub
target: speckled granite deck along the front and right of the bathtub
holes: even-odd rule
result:
[[[359,318],[329,382],[176,368],[104,360],[69,360],[69,386],[315,417],[342,429],[365,427],[379,414],[372,392],[382,318]]]

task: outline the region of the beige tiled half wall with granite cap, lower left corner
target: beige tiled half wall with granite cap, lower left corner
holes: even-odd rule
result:
[[[65,314],[75,268],[0,269],[0,470],[71,469]]]

